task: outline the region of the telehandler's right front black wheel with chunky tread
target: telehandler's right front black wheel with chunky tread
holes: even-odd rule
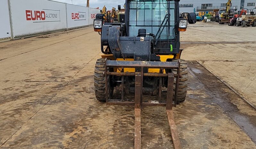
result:
[[[180,64],[180,74],[181,78],[179,78],[179,86],[178,86],[178,96],[177,102],[183,102],[186,100],[187,90],[188,90],[188,67],[187,62],[183,59],[179,59]],[[178,60],[173,60],[178,61]],[[174,73],[177,73],[177,70],[173,70]],[[173,91],[173,98],[175,98],[175,85],[176,85],[176,78],[174,78],[174,91]]]

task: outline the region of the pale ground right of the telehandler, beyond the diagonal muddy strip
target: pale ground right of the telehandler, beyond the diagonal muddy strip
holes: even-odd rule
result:
[[[256,28],[199,22],[188,30],[183,59],[199,61],[256,108]]]

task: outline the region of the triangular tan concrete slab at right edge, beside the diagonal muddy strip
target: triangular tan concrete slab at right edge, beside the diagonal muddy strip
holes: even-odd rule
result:
[[[256,62],[200,62],[256,108]]]

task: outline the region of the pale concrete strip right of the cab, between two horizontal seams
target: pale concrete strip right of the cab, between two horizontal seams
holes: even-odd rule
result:
[[[256,61],[256,43],[183,43],[181,48],[181,58],[185,60]]]

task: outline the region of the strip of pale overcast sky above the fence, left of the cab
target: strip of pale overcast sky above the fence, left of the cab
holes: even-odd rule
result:
[[[54,0],[58,2],[68,3],[71,4],[72,0]],[[73,4],[86,6],[87,0],[73,0]],[[90,7],[102,9],[104,5],[106,5],[107,10],[111,10],[112,7],[117,9],[117,5],[121,5],[123,8],[125,0],[90,0]]]

